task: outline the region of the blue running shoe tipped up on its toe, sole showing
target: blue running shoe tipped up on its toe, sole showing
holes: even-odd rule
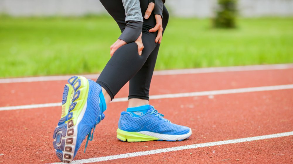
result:
[[[93,139],[96,125],[104,119],[106,103],[102,88],[82,76],[73,76],[64,87],[62,114],[53,134],[53,146],[58,158],[70,163],[86,136]],[[86,149],[86,147],[85,147]]]

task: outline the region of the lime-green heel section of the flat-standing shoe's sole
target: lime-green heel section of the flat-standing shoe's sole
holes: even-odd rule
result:
[[[140,134],[137,132],[127,132],[121,129],[117,129],[117,138],[121,141],[127,142],[142,142],[142,141],[153,141],[159,140],[159,138]]]

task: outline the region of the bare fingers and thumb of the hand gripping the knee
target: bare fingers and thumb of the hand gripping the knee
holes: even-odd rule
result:
[[[149,16],[151,15],[151,12],[154,10],[155,4],[153,2],[149,3],[149,6],[147,8],[147,11],[144,15],[145,19],[148,19]],[[155,39],[156,43],[161,43],[162,38],[163,38],[163,23],[162,23],[162,16],[159,14],[155,14],[155,19],[156,19],[156,26],[152,29],[149,30],[149,32],[156,32],[158,31],[157,37]]]

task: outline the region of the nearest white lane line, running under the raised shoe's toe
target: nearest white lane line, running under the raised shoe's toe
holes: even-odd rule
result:
[[[158,153],[166,153],[166,152],[171,152],[171,151],[180,151],[180,150],[186,150],[186,149],[196,149],[196,148],[199,148],[199,147],[208,147],[208,146],[225,145],[225,144],[235,144],[235,143],[250,142],[250,141],[262,140],[262,139],[286,137],[286,136],[290,136],[290,135],[293,135],[293,131],[292,132],[271,134],[271,135],[262,135],[262,136],[256,136],[256,137],[229,139],[229,140],[225,140],[225,141],[207,142],[207,143],[202,143],[202,144],[192,144],[192,145],[185,145],[185,146],[169,147],[169,148],[164,148],[164,149],[139,151],[139,152],[134,152],[134,153],[125,153],[125,154],[118,154],[118,155],[113,155],[113,156],[104,156],[104,157],[97,157],[97,158],[74,160],[71,163],[72,164],[79,164],[79,163],[101,162],[101,161],[106,161],[106,160],[114,160],[114,159],[137,157],[137,156],[146,156],[146,155],[158,154]],[[62,162],[58,162],[58,163],[62,163]]]

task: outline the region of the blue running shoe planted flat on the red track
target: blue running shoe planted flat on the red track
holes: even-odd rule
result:
[[[191,129],[163,118],[151,105],[127,108],[121,113],[117,138],[121,141],[182,141],[191,135]]]

